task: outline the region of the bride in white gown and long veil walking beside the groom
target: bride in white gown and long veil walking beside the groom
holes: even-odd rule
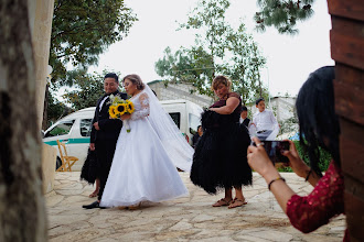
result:
[[[100,206],[138,206],[188,196],[176,167],[190,172],[193,148],[138,75],[128,75],[122,82],[132,96],[135,112],[121,116],[130,132],[126,125],[120,131]]]

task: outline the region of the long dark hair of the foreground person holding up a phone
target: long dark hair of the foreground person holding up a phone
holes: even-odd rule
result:
[[[311,168],[319,175],[319,146],[328,151],[340,166],[340,124],[335,114],[334,78],[333,66],[317,69],[302,85],[296,101],[300,144],[309,155]]]

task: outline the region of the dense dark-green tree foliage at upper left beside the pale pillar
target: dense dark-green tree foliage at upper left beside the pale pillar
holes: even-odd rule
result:
[[[72,86],[75,73],[67,72],[67,65],[85,72],[97,64],[98,56],[121,41],[135,21],[124,0],[55,0],[50,53],[54,87]]]

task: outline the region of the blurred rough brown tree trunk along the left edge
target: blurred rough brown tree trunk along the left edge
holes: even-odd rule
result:
[[[0,241],[46,241],[28,0],[0,1]]]

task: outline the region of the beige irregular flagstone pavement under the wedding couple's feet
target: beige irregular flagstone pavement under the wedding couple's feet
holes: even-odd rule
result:
[[[195,187],[189,174],[180,173],[190,196],[158,204],[144,202],[138,210],[90,209],[82,205],[94,190],[79,180],[79,172],[56,173],[54,190],[46,194],[50,241],[342,241],[345,217],[339,216],[317,231],[303,234],[290,226],[265,180],[254,174],[245,188],[248,201],[240,208],[213,208],[223,194],[211,196]],[[281,173],[291,188],[306,195],[312,187],[292,173]]]

